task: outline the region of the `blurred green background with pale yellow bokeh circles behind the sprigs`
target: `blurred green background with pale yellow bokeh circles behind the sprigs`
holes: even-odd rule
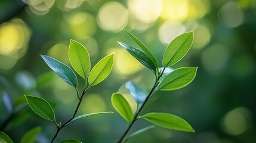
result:
[[[112,73],[91,88],[78,114],[114,111],[110,102],[113,92],[121,92],[132,102],[124,87],[128,80],[149,90],[153,74],[116,42],[137,47],[123,29],[137,36],[159,61],[172,39],[194,30],[192,48],[174,68],[199,67],[189,86],[158,92],[143,110],[183,117],[196,132],[157,127],[129,142],[256,142],[254,0],[1,0],[1,130],[14,142],[35,126],[42,126],[37,142],[49,142],[53,137],[54,123],[33,113],[24,102],[24,94],[49,101],[58,122],[65,122],[73,114],[78,102],[75,90],[54,74],[39,55],[50,55],[70,66],[70,39],[85,45],[92,65],[115,52]],[[11,104],[4,104],[10,101],[8,95],[15,110],[21,111],[3,126],[13,110]],[[151,124],[138,120],[131,132],[148,125]],[[82,142],[115,142],[126,128],[127,123],[118,113],[101,114],[67,126],[57,141],[73,138]]]

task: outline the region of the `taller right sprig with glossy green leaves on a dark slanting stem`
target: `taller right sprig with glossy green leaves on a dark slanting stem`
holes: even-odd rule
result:
[[[183,33],[169,44],[162,59],[163,67],[159,67],[158,60],[142,42],[140,42],[127,30],[125,30],[125,32],[135,43],[137,43],[138,46],[140,46],[142,51],[125,43],[118,43],[141,64],[151,70],[155,74],[156,80],[148,94],[146,94],[145,89],[141,88],[141,86],[137,85],[136,83],[131,81],[126,83],[126,88],[129,94],[137,104],[135,113],[132,112],[131,105],[125,100],[122,94],[112,94],[113,107],[129,123],[127,130],[125,130],[124,134],[118,140],[118,143],[128,141],[129,137],[125,139],[125,136],[131,129],[134,122],[138,119],[144,119],[154,123],[155,125],[168,129],[180,130],[184,132],[195,132],[195,130],[189,125],[189,123],[186,122],[186,120],[173,114],[147,113],[143,116],[139,116],[147,101],[149,101],[149,99],[153,97],[157,91],[172,91],[183,88],[184,86],[189,85],[189,83],[191,83],[195,78],[198,67],[181,67],[175,70],[169,68],[180,61],[187,54],[190,46],[192,46],[193,43],[193,32]],[[145,132],[146,130],[147,128],[141,129],[140,132],[135,132],[135,134]],[[134,133],[132,133],[132,135],[134,135]]]

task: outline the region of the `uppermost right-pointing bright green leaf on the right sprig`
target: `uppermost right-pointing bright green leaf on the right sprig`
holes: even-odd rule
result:
[[[193,43],[194,32],[183,33],[175,38],[166,48],[163,66],[169,67],[180,61],[189,51]]]

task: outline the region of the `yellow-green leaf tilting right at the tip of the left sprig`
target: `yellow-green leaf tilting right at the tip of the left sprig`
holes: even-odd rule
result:
[[[90,85],[97,85],[109,76],[109,73],[112,70],[113,61],[114,54],[107,55],[98,61],[98,63],[92,68],[88,77]]]

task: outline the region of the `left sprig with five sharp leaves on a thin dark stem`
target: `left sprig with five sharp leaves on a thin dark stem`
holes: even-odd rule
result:
[[[32,95],[24,95],[26,98],[27,103],[35,111],[36,114],[43,117],[44,119],[53,121],[57,128],[53,139],[57,137],[58,133],[61,129],[65,126],[70,125],[70,123],[75,122],[78,119],[82,119],[88,116],[94,116],[97,114],[106,114],[106,113],[113,113],[109,112],[98,112],[98,113],[90,113],[90,114],[83,114],[81,116],[76,116],[79,107],[82,103],[82,99],[84,95],[88,92],[91,86],[97,85],[98,83],[102,82],[109,76],[110,71],[112,70],[114,54],[107,55],[106,57],[102,58],[98,61],[97,64],[91,69],[91,62],[90,62],[90,55],[87,49],[81,44],[76,41],[71,40],[69,45],[69,60],[76,71],[84,79],[84,89],[82,90],[81,94],[79,94],[78,90],[78,79],[76,77],[75,72],[70,69],[70,67],[66,66],[65,64],[61,63],[60,61],[49,57],[47,55],[41,55],[45,63],[61,78],[64,82],[68,83],[69,85],[73,86],[76,89],[76,96],[78,97],[78,104],[76,105],[75,111],[73,116],[70,117],[69,120],[64,122],[63,124],[57,123],[55,120],[54,110],[51,105],[41,97],[34,97]],[[67,142],[71,140],[66,140],[63,142]],[[73,142],[78,142],[72,140]]]

